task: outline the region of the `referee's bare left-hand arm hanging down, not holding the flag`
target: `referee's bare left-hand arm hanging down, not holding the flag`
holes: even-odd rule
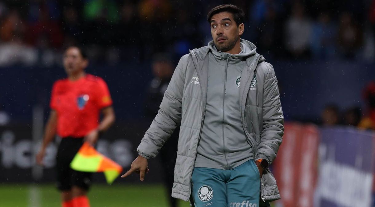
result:
[[[36,163],[38,165],[43,164],[43,157],[45,154],[45,150],[48,144],[55,137],[56,127],[57,127],[57,113],[55,110],[51,110],[51,113],[49,114],[49,118],[48,118],[45,130],[44,130],[42,147],[40,147],[39,152],[36,154]]]

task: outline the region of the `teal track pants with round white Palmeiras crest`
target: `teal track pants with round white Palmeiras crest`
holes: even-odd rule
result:
[[[258,207],[260,175],[254,159],[228,170],[194,168],[192,198],[195,207]]]

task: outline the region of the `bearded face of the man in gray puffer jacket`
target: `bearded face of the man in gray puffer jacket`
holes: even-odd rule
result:
[[[211,35],[216,49],[231,50],[243,34],[243,24],[237,26],[230,12],[220,12],[211,18]]]

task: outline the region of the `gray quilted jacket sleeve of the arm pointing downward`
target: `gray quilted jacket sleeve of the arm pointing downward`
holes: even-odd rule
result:
[[[181,104],[185,82],[183,58],[178,62],[156,117],[137,148],[138,154],[147,159],[157,155],[177,125],[181,123]]]

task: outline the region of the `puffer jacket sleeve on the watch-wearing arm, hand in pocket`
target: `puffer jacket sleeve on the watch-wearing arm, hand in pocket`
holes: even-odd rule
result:
[[[281,109],[278,80],[273,66],[267,72],[263,94],[263,131],[255,160],[273,162],[284,135],[284,115]]]

